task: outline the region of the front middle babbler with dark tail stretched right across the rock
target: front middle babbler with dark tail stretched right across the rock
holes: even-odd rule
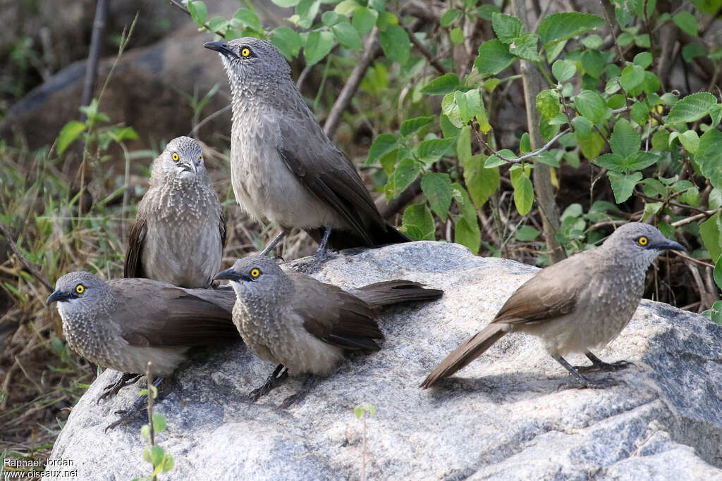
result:
[[[308,275],[284,273],[276,262],[258,256],[237,260],[216,279],[230,280],[235,291],[233,322],[245,344],[261,359],[278,364],[251,398],[257,400],[276,387],[289,371],[308,374],[301,390],[284,400],[284,407],[303,399],[318,376],[331,374],[344,353],[380,349],[375,340],[383,338],[376,324],[381,306],[430,301],[443,294],[411,281],[344,291]]]

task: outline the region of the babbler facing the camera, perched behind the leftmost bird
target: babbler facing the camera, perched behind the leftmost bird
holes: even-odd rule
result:
[[[123,277],[203,288],[221,267],[225,220],[201,147],[177,137],[153,162],[150,188],[138,204]]]

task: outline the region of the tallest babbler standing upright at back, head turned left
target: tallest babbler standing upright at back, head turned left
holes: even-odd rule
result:
[[[329,247],[375,246],[409,239],[384,221],[356,168],[336,149],[269,42],[244,37],[209,42],[233,96],[230,172],[235,200],[256,221],[282,227],[263,254],[292,227]]]

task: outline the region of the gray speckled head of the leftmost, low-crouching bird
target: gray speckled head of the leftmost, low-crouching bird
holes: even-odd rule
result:
[[[58,303],[61,314],[92,314],[112,301],[110,287],[91,273],[77,271],[63,275],[55,284],[48,304]]]

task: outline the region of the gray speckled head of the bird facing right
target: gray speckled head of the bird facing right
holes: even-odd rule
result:
[[[684,250],[682,244],[671,241],[655,226],[641,222],[630,222],[620,226],[602,244],[614,255],[629,259],[632,264],[646,268],[663,250]]]

